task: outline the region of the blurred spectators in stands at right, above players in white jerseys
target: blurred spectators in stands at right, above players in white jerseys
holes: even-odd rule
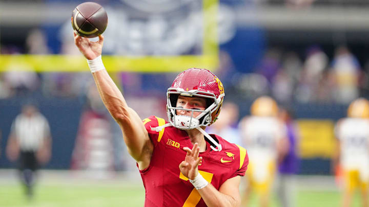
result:
[[[280,103],[347,104],[367,93],[367,71],[344,45],[333,58],[318,46],[306,49],[305,56],[294,51],[269,49],[254,73],[237,77],[235,86],[251,99],[272,95]]]

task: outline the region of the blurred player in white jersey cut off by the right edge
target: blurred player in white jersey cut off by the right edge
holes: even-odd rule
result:
[[[342,206],[351,206],[355,190],[360,189],[362,206],[368,207],[369,101],[363,98],[353,101],[347,109],[347,118],[337,122],[335,133],[339,147],[335,163],[343,171]]]

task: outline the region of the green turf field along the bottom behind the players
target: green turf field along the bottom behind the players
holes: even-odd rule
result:
[[[23,189],[14,185],[5,185],[0,188],[0,206],[144,206],[145,192],[140,187],[103,187],[91,186],[38,186],[35,198],[28,200],[23,195]],[[326,191],[301,191],[297,195],[297,206],[319,207],[339,206],[339,193]],[[360,206],[355,200],[354,206]],[[255,206],[253,202],[252,206]],[[276,198],[272,206],[278,206]]]

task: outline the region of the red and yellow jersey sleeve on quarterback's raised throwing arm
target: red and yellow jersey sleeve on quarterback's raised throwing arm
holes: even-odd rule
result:
[[[164,129],[162,129],[161,131],[156,131],[153,128],[165,125],[166,121],[164,119],[161,119],[161,118],[158,118],[158,117],[155,117],[155,116],[151,116],[149,118],[146,118],[146,119],[142,120],[142,122],[144,123],[145,128],[146,128],[147,132],[149,133],[150,140],[152,141],[154,146],[156,146],[157,143],[160,142],[160,139],[163,135]]]

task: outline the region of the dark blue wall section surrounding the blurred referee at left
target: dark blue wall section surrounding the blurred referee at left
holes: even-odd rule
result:
[[[33,99],[33,97],[32,97]],[[16,163],[10,163],[5,155],[11,124],[20,112],[24,98],[0,100],[0,168],[16,168]],[[77,134],[79,117],[84,106],[81,99],[39,99],[37,106],[48,119],[53,138],[52,157],[43,168],[69,169],[74,141]]]

